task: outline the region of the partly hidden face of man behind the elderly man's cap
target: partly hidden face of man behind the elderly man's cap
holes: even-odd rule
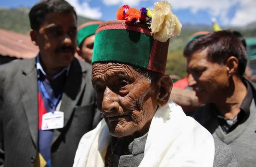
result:
[[[87,37],[83,43],[81,44],[81,53],[83,59],[88,62],[92,63],[92,52],[93,52],[93,44],[94,44],[95,35],[91,35]]]

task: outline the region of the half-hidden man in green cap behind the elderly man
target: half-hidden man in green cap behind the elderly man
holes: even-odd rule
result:
[[[101,21],[88,22],[77,28],[77,53],[90,64],[92,63],[95,33],[100,24]]]

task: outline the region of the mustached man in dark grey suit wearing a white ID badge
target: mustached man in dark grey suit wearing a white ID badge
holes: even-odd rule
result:
[[[35,59],[0,67],[0,166],[72,166],[92,130],[91,65],[74,58],[77,15],[63,0],[44,0],[29,13]]]

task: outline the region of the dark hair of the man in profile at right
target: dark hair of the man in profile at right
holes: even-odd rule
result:
[[[247,63],[245,47],[245,40],[239,32],[223,30],[200,36],[188,42],[183,55],[189,58],[194,53],[207,48],[207,60],[218,64],[224,64],[230,56],[235,56],[239,61],[239,76],[242,76]]]

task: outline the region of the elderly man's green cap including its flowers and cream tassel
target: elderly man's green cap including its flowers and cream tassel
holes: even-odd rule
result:
[[[156,2],[151,11],[128,5],[120,7],[117,19],[97,29],[92,64],[119,62],[164,74],[170,37],[179,35],[181,24],[167,1]]]

